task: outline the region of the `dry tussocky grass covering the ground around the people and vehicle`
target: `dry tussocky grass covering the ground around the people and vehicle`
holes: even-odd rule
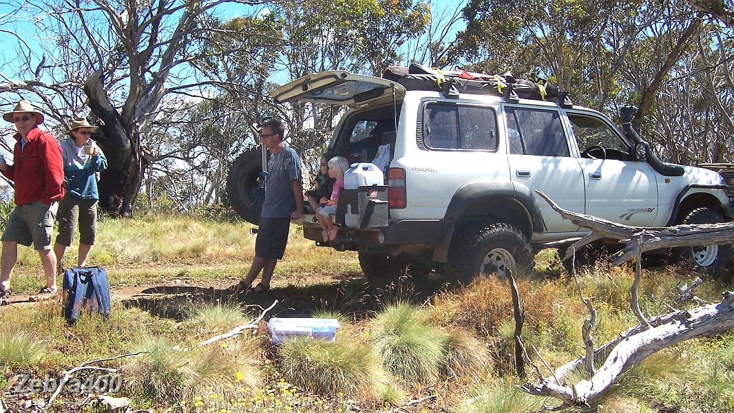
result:
[[[248,234],[249,224],[175,216],[106,219],[102,225],[101,244],[92,251],[98,263],[108,266],[113,289],[174,279],[179,285],[230,285],[247,271],[255,240]],[[115,303],[111,318],[87,316],[76,326],[65,324],[59,301],[0,309],[0,354],[3,346],[15,348],[7,351],[15,358],[0,358],[4,373],[0,388],[20,369],[40,376],[54,374],[90,359],[127,353],[146,342],[142,348],[147,346],[154,355],[103,365],[122,368],[123,385],[135,409],[286,412],[286,406],[291,411],[308,406],[304,410],[309,412],[374,411],[394,409],[432,393],[440,398],[411,408],[416,412],[515,412],[544,402],[513,387],[519,379],[513,371],[514,321],[506,281],[484,278],[468,288],[446,290],[444,284],[450,280],[434,275],[374,288],[357,278],[360,270],[353,252],[317,248],[300,237],[297,227],[291,231],[274,289],[239,302],[223,304],[203,290],[198,295],[150,296],[126,306]],[[20,251],[13,289],[36,290],[43,283],[37,254]],[[76,247],[69,253],[73,260]],[[552,254],[539,254],[537,259],[545,260],[546,255]],[[550,275],[558,267],[551,262],[539,265]],[[669,304],[677,306],[672,301],[676,285],[693,278],[677,268],[644,271],[643,311],[653,315],[667,312]],[[630,267],[598,266],[581,274],[584,296],[592,299],[599,313],[597,345],[636,323],[628,307],[632,279]],[[586,309],[573,279],[520,279],[518,283],[527,311],[523,339],[528,346],[537,346],[555,367],[581,354]],[[720,281],[706,282],[697,294],[718,301],[722,290],[730,289]],[[273,316],[340,320],[344,327],[337,342],[304,340],[300,348],[291,348],[289,373],[288,365],[281,362],[286,357],[273,351],[263,332],[226,340],[224,347],[216,343],[181,350],[249,321],[251,317],[241,310],[243,300],[266,307],[274,299],[282,301]],[[413,304],[382,311],[390,302]],[[625,375],[599,409],[734,411],[732,337],[693,340],[653,356]],[[20,344],[4,345],[1,340]],[[38,343],[43,350],[35,354],[43,356],[18,357]],[[370,376],[374,372],[382,373]],[[484,384],[475,387],[477,382]],[[471,402],[462,403],[465,400]]]

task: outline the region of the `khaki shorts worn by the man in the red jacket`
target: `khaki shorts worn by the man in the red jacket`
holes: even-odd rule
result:
[[[26,205],[18,205],[7,219],[5,231],[0,241],[17,242],[34,249],[51,249],[51,234],[54,232],[54,219],[59,202],[46,205],[40,200]]]

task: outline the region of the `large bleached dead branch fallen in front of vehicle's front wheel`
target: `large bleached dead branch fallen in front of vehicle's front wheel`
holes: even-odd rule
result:
[[[682,341],[720,335],[734,329],[734,293],[731,291],[724,292],[722,301],[717,304],[708,304],[691,310],[676,310],[651,318],[644,317],[637,297],[642,275],[642,252],[673,246],[732,243],[734,242],[734,224],[679,225],[666,228],[631,227],[595,216],[564,210],[542,192],[537,191],[537,193],[565,219],[570,219],[578,226],[593,231],[570,246],[563,259],[573,257],[574,251],[579,247],[601,238],[614,238],[626,242],[625,249],[614,260],[614,265],[625,263],[636,257],[635,281],[631,286],[630,307],[639,324],[592,351],[593,341],[590,330],[594,324],[595,311],[590,301],[581,295],[581,301],[592,313],[592,316],[584,322],[584,329],[582,329],[586,354],[555,371],[551,370],[550,377],[541,376],[539,384],[530,382],[523,384],[520,386],[521,390],[531,395],[553,397],[562,401],[561,406],[552,408],[554,410],[571,406],[589,406],[598,401],[622,373],[643,362],[650,355]],[[579,293],[581,293],[581,285],[578,284],[578,278],[575,279]],[[680,295],[684,299],[690,298],[693,288],[700,282],[702,279],[697,279],[697,282],[694,282],[691,287],[684,286]],[[601,365],[601,367],[595,370],[595,365]],[[576,384],[568,384],[566,378],[569,373],[579,368],[585,368],[590,378]]]

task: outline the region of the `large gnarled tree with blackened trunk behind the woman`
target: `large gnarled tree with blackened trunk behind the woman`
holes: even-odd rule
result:
[[[212,84],[193,76],[197,70],[193,63],[231,52],[202,48],[199,40],[211,30],[206,22],[226,5],[259,3],[18,1],[15,7],[22,11],[18,15],[32,19],[39,39],[51,37],[51,41],[30,44],[26,39],[28,44],[21,46],[25,67],[18,80],[4,75],[0,92],[32,95],[62,122],[89,107],[109,161],[100,180],[101,206],[112,213],[131,213],[148,165],[142,142],[159,116],[159,106],[169,96],[197,95]]]

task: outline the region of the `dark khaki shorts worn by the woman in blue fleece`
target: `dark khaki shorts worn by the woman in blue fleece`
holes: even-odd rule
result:
[[[66,194],[59,202],[59,235],[56,242],[71,245],[71,239],[79,219],[79,242],[94,245],[97,235],[97,200],[82,200]]]

